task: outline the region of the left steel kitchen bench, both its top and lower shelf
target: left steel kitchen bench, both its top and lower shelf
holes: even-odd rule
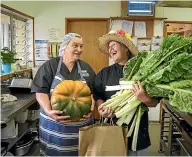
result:
[[[2,102],[1,104],[1,125],[17,116],[22,110],[29,108],[36,103],[35,94],[11,94],[17,97],[17,101]],[[18,135],[15,138],[1,139],[2,142],[7,142],[9,151],[17,141],[19,141],[30,128],[36,128],[37,120],[18,123]]]

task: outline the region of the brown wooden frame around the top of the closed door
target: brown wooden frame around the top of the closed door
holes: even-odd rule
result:
[[[68,23],[70,21],[106,21],[107,22],[107,30],[109,32],[110,26],[110,18],[65,18],[65,34],[70,33],[68,32]],[[108,33],[107,32],[107,33]]]

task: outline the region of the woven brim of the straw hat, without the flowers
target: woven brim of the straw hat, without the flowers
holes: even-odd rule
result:
[[[132,41],[127,39],[125,36],[117,35],[117,34],[105,34],[102,37],[100,37],[99,44],[98,44],[99,50],[105,54],[108,54],[109,43],[111,41],[117,41],[119,43],[124,44],[130,50],[133,56],[137,55],[139,52],[136,46],[132,43]]]

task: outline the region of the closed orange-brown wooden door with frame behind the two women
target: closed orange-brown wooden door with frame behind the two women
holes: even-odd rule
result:
[[[98,38],[108,33],[109,20],[107,18],[66,18],[65,22],[66,33],[76,32],[83,37],[84,48],[81,60],[89,63],[96,73],[108,66],[109,56],[99,51]]]

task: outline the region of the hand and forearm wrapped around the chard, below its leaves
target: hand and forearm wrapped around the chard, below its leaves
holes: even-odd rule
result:
[[[146,104],[148,107],[156,107],[158,104],[158,101],[156,99],[151,98],[146,93],[140,82],[133,84],[132,93],[137,97],[138,100]]]

